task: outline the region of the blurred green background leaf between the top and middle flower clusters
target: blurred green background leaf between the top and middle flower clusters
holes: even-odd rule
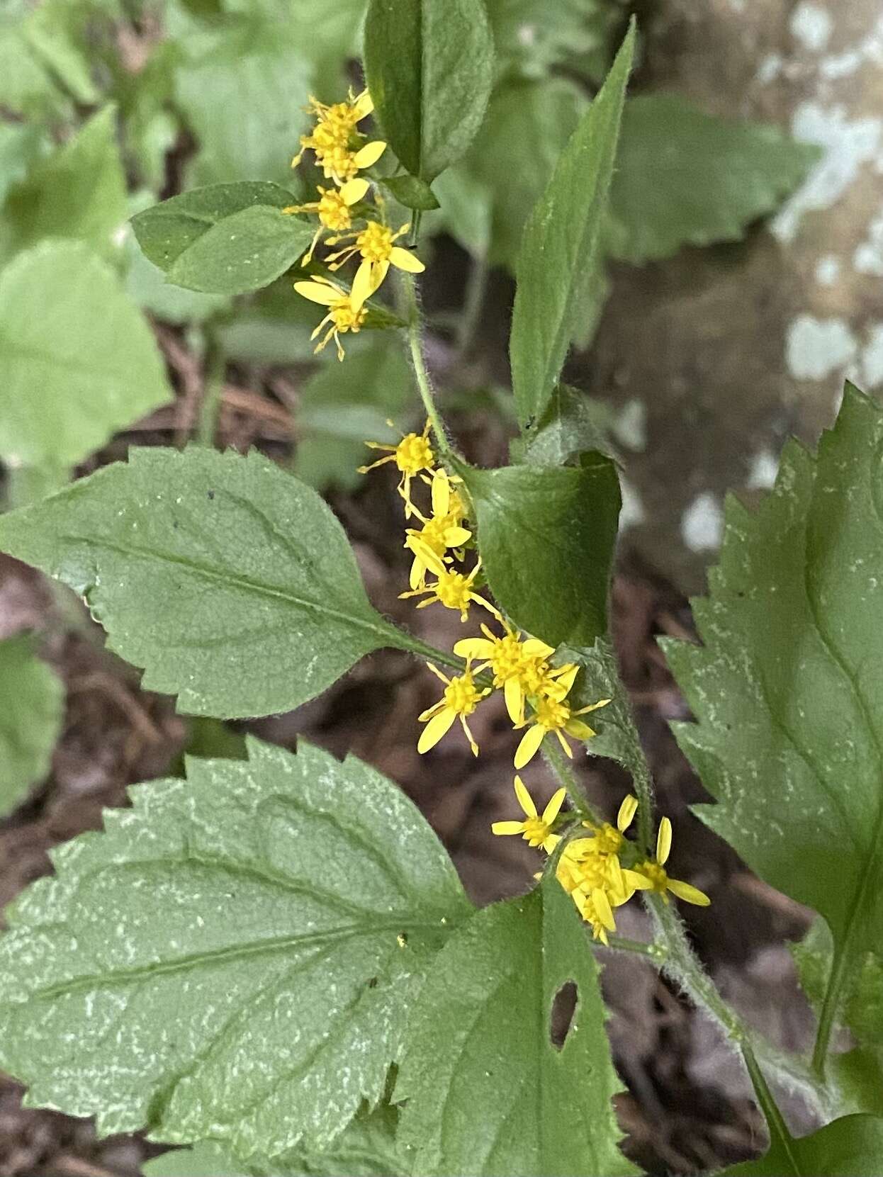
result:
[[[369,451],[365,441],[397,441],[387,418],[411,397],[411,370],[398,347],[379,340],[370,351],[320,368],[301,387],[294,473],[311,486],[353,487]]]

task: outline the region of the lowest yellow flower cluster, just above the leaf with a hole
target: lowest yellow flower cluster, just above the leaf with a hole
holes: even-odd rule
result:
[[[530,846],[542,846],[547,855],[553,853],[560,842],[560,834],[553,829],[565,790],[559,789],[555,793],[542,817],[520,777],[514,778],[514,791],[525,820],[494,822],[491,829],[497,834],[519,833]],[[701,907],[711,902],[690,883],[669,878],[665,863],[671,851],[671,822],[666,817],[659,823],[656,857],[638,860],[637,847],[625,837],[637,809],[638,800],[630,793],[619,806],[616,826],[608,822],[603,825],[583,822],[583,826],[590,830],[589,836],[571,838],[558,857],[556,878],[579,915],[591,925],[595,939],[603,944],[608,943],[608,932],[616,931],[613,910],[628,903],[636,891],[656,891],[665,903],[669,902],[669,893]]]

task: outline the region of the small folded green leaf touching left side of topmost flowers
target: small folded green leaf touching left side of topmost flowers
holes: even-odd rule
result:
[[[175,286],[245,294],[268,286],[310,245],[312,226],[281,212],[294,201],[277,184],[212,184],[146,208],[132,228]]]

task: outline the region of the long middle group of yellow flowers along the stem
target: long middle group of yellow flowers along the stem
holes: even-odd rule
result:
[[[467,508],[460,480],[438,465],[429,437],[429,421],[423,433],[409,433],[397,445],[366,444],[372,450],[384,451],[384,457],[370,466],[360,466],[360,473],[394,463],[401,476],[398,488],[405,503],[405,519],[420,525],[405,531],[405,547],[413,559],[410,587],[400,597],[423,598],[418,609],[433,604],[452,609],[460,614],[462,621],[469,619],[473,606],[479,606],[502,630],[494,633],[489,625],[482,624],[483,637],[464,638],[454,644],[453,653],[466,664],[462,674],[449,678],[430,664],[430,670],[444,683],[444,692],[439,701],[419,717],[426,726],[417,750],[427,752],[434,747],[459,719],[473,754],[478,756],[478,745],[466,720],[482,699],[493,690],[502,690],[509,718],[514,729],[523,732],[514,754],[516,769],[523,769],[533,759],[550,733],[557,737],[564,752],[572,756],[567,736],[585,740],[595,734],[579,717],[610,700],[599,699],[585,707],[573,707],[567,697],[578,667],[572,663],[553,666],[550,660],[553,647],[538,638],[517,633],[482,594],[480,558],[474,558],[472,566],[466,567],[472,532],[465,526]],[[416,479],[430,487],[427,513],[412,499]]]

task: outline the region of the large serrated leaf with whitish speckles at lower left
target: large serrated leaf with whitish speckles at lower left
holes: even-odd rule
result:
[[[327,1148],[383,1097],[469,900],[373,769],[248,753],[134,789],[12,907],[0,1065],[32,1105],[263,1162]]]

